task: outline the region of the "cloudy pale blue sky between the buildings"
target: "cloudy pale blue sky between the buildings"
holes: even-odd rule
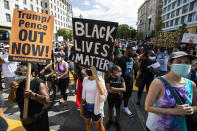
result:
[[[69,0],[73,7],[73,16],[118,22],[134,28],[137,22],[137,10],[145,0]]]

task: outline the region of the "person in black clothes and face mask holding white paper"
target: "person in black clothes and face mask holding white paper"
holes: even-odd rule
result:
[[[142,81],[140,87],[138,87],[138,101],[136,105],[140,105],[140,100],[144,87],[146,86],[146,91],[148,92],[150,83],[154,79],[156,70],[150,65],[156,62],[156,56],[153,50],[146,50],[145,53],[140,58],[140,75],[138,76]]]

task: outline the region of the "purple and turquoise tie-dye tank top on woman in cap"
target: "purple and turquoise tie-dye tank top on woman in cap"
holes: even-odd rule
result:
[[[175,98],[172,96],[170,90],[164,83],[163,88],[164,95],[155,101],[154,106],[160,108],[174,108],[176,106]],[[192,104],[193,88],[190,80],[185,79],[185,85],[183,87],[173,88],[185,104]],[[187,131],[185,116],[180,115],[176,116],[149,112],[146,126],[151,131]]]

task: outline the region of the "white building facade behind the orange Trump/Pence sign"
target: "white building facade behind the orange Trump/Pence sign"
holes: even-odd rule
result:
[[[1,30],[11,29],[15,8],[54,15],[54,34],[60,28],[72,29],[72,4],[67,0],[0,0],[0,39]]]

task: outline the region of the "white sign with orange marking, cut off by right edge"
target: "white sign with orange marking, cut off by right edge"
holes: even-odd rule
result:
[[[197,44],[197,34],[184,33],[182,43]]]

